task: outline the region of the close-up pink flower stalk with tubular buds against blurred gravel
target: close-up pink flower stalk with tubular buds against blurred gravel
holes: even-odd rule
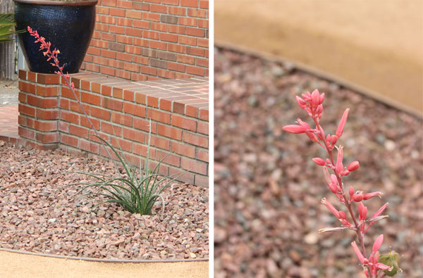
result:
[[[321,166],[329,190],[335,194],[338,201],[345,206],[346,209],[346,213],[343,210],[337,210],[335,206],[326,200],[326,198],[322,198],[321,203],[323,203],[324,206],[326,206],[326,208],[328,208],[331,213],[338,218],[341,222],[341,227],[324,228],[320,229],[319,232],[341,232],[344,229],[353,230],[357,234],[358,245],[355,241],[353,241],[351,246],[353,247],[353,251],[357,254],[366,276],[369,278],[379,278],[384,277],[385,275],[393,276],[393,274],[396,274],[396,270],[400,270],[398,268],[399,255],[398,253],[392,253],[396,254],[395,258],[397,258],[397,260],[383,260],[383,262],[382,260],[379,260],[379,248],[384,241],[383,234],[377,237],[372,247],[372,253],[369,256],[367,256],[367,251],[364,246],[364,235],[367,233],[369,228],[377,221],[388,217],[388,215],[382,215],[388,206],[388,203],[381,206],[381,208],[379,208],[372,217],[367,217],[367,207],[364,206],[363,201],[367,201],[375,196],[381,197],[382,192],[376,191],[364,193],[362,191],[355,191],[353,187],[350,187],[348,189],[348,197],[345,190],[345,184],[343,183],[343,177],[350,175],[350,172],[360,168],[360,163],[357,160],[350,163],[348,167],[345,167],[343,165],[343,146],[336,146],[338,139],[343,134],[343,129],[345,127],[345,123],[347,122],[350,109],[347,108],[345,110],[335,134],[331,135],[326,134],[323,127],[320,125],[320,118],[323,112],[324,94],[319,94],[319,91],[316,89],[312,92],[312,94],[307,91],[306,94],[302,94],[302,97],[296,96],[295,98],[300,108],[305,110],[312,118],[315,127],[310,127],[307,122],[303,122],[300,118],[298,118],[297,125],[286,125],[283,129],[286,132],[294,134],[305,133],[310,140],[319,144],[326,151],[328,155],[327,158],[313,158],[312,160],[314,163]],[[336,160],[334,158],[335,149]],[[357,203],[358,213],[357,210],[354,210],[354,203]],[[384,256],[381,257],[385,258]],[[391,255],[391,257],[393,258],[393,255]],[[388,261],[391,263],[386,263]],[[383,272],[380,272],[379,270],[382,270]]]

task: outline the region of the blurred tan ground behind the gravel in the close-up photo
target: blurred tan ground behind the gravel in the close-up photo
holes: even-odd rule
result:
[[[422,116],[423,0],[215,0],[214,37],[323,71]]]

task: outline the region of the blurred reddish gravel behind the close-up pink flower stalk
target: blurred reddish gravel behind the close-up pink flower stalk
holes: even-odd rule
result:
[[[392,246],[402,255],[396,277],[423,277],[422,120],[290,65],[223,49],[214,59],[215,277],[363,277],[353,231],[317,233],[339,225],[321,198],[341,208],[311,160],[324,151],[282,129],[311,122],[295,95],[316,88],[326,94],[326,132],[350,108],[338,144],[344,165],[359,160],[360,169],[346,187],[384,192],[365,201],[368,215],[390,203],[389,218],[365,236],[367,250],[384,234],[381,253]]]

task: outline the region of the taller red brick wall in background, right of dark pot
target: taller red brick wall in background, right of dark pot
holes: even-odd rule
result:
[[[208,47],[208,0],[99,0],[81,69],[132,81],[206,77]]]

